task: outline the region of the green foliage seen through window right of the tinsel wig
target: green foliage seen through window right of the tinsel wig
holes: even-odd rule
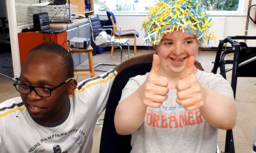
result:
[[[202,0],[208,11],[237,11],[239,0]]]

